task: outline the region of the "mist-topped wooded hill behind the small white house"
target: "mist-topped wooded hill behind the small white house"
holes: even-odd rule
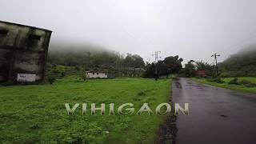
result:
[[[143,58],[138,54],[119,54],[94,44],[72,44],[67,42],[51,43],[48,53],[48,63],[62,66],[77,66],[83,69],[109,67],[126,69],[128,67],[142,68]]]

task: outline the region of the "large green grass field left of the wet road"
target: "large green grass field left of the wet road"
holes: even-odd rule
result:
[[[134,103],[135,112],[144,102],[153,109],[170,96],[170,79],[65,78],[53,85],[0,86],[1,143],[154,143],[158,125],[166,118],[154,115],[67,115],[65,103]],[[90,107],[89,107],[90,110]],[[115,107],[117,113],[117,107]],[[109,133],[107,133],[108,131]]]

